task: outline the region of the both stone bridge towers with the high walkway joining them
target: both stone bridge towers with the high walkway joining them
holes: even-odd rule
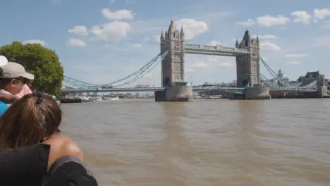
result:
[[[250,37],[249,30],[245,30],[243,39],[234,48],[226,46],[208,46],[200,44],[185,44],[183,25],[181,31],[176,30],[173,19],[169,30],[161,32],[160,51],[169,54],[161,61],[162,87],[171,86],[176,82],[185,82],[185,54],[202,54],[236,57],[237,87],[259,87],[259,38]]]

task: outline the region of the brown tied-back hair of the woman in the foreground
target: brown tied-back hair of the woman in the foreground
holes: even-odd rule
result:
[[[59,104],[46,94],[27,94],[0,117],[0,149],[37,144],[53,135],[61,123]]]

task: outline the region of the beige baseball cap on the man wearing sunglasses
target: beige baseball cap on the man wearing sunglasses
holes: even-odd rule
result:
[[[0,66],[0,70],[2,70],[0,78],[16,78],[16,77],[25,77],[27,80],[35,79],[35,75],[27,73],[25,68],[13,62],[8,62],[4,66]]]

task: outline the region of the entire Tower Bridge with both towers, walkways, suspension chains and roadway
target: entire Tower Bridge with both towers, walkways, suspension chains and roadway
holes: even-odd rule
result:
[[[63,93],[75,92],[155,92],[156,101],[190,101],[193,99],[193,90],[219,89],[229,94],[243,95],[244,99],[269,99],[271,92],[322,92],[320,87],[324,86],[322,78],[310,82],[301,87],[301,83],[291,85],[283,81],[274,70],[260,56],[259,38],[252,38],[249,30],[245,30],[243,39],[235,47],[222,45],[210,46],[202,44],[186,44],[183,26],[177,30],[173,19],[166,32],[161,31],[160,54],[152,61],[136,70],[134,73],[103,85],[94,85],[88,82],[65,77],[63,82],[70,85],[71,89],[62,89]],[[236,58],[236,88],[224,87],[188,87],[185,81],[185,54],[202,54],[213,56],[232,56]],[[132,82],[149,73],[158,63],[161,63],[161,87],[149,88],[122,88],[123,85],[130,85]],[[260,65],[263,65],[273,76],[268,80],[260,73]],[[276,80],[275,83],[272,80]],[[104,89],[102,87],[111,87]]]

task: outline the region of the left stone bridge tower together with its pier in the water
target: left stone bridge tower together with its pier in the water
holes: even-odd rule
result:
[[[169,30],[161,31],[161,54],[169,54],[161,61],[161,86],[164,90],[154,92],[155,101],[193,101],[193,88],[185,82],[185,32],[176,29],[171,18]]]

